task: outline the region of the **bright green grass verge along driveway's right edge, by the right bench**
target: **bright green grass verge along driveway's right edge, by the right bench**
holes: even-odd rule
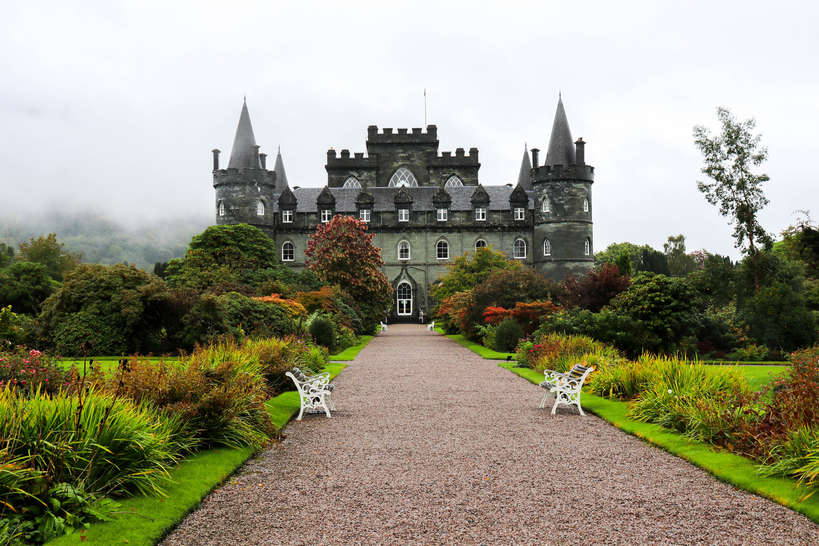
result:
[[[529,368],[514,368],[514,364],[505,362],[498,363],[498,366],[506,368],[536,385],[543,381],[541,372],[535,372]],[[749,366],[746,370],[748,368],[758,367]],[[748,373],[755,380],[769,377],[767,374],[764,374],[764,376],[757,374],[755,370],[749,370]],[[766,499],[771,499],[775,503],[800,512],[812,521],[819,523],[819,495],[815,494],[799,503],[803,490],[794,490],[795,480],[790,478],[757,477],[757,467],[749,458],[734,453],[716,451],[712,445],[704,442],[686,440],[682,435],[669,431],[663,426],[632,421],[626,417],[627,404],[625,402],[605,399],[584,392],[581,404],[584,411],[594,413],[613,424],[613,426],[617,426],[621,431],[654,444],[677,457],[686,459],[695,467],[702,468],[718,480],[750,493],[758,494]],[[550,409],[546,408],[544,411],[550,411]]]

